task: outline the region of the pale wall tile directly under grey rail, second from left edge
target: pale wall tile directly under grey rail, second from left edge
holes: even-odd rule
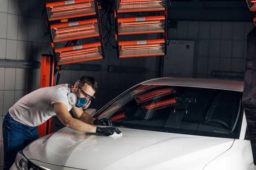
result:
[[[4,76],[4,90],[15,90],[16,68],[6,68]]]

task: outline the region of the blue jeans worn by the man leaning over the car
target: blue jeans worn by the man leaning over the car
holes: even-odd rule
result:
[[[3,119],[3,170],[9,170],[17,153],[38,139],[37,127],[29,127],[12,119],[9,112]]]

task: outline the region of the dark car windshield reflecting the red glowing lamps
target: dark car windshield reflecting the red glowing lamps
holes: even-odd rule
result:
[[[113,126],[200,136],[239,138],[242,92],[140,85],[99,111]]]

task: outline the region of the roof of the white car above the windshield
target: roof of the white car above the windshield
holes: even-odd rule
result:
[[[244,82],[226,79],[173,78],[163,77],[142,82],[143,85],[176,85],[199,88],[215,88],[232,91],[243,91]]]

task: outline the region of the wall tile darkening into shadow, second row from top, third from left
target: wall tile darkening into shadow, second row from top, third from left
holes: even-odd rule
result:
[[[19,16],[18,40],[27,41],[29,31],[29,17]]]

